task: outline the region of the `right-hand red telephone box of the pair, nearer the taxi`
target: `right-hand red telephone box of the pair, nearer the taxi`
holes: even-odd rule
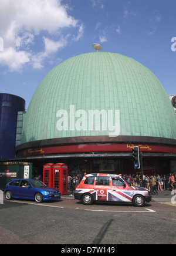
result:
[[[53,165],[53,187],[59,188],[62,195],[67,194],[68,166],[63,163]]]

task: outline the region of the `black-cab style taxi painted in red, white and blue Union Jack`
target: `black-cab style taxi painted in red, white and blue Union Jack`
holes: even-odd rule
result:
[[[130,186],[121,176],[104,173],[84,176],[76,187],[74,196],[83,204],[93,204],[93,201],[116,201],[142,207],[145,202],[151,201],[147,188]]]

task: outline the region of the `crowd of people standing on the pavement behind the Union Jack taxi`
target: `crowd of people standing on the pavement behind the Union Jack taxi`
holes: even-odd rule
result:
[[[86,175],[86,173],[84,173]],[[84,176],[83,175],[83,176]],[[158,195],[158,191],[161,190],[174,190],[176,189],[176,175],[170,173],[169,175],[160,175],[160,174],[153,174],[153,175],[144,175],[143,178],[141,175],[136,174],[119,174],[125,181],[127,181],[130,186],[136,187],[145,187],[150,191],[150,194]],[[80,183],[83,178],[82,175],[77,174],[77,176],[68,176],[68,190],[72,191],[70,196],[73,196],[73,191]]]

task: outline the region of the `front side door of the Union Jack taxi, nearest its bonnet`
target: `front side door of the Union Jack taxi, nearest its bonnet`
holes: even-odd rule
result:
[[[111,177],[112,186],[107,191],[107,200],[116,202],[131,202],[133,200],[133,193],[128,185],[124,183],[119,177]]]

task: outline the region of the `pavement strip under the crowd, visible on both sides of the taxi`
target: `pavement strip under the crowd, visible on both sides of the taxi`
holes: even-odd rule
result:
[[[171,198],[174,196],[174,194],[171,194],[171,192],[172,191],[170,190],[158,191],[158,196],[152,195],[152,201],[158,202],[158,203],[171,203]],[[176,190],[175,190],[175,193],[176,193]],[[70,194],[71,194],[71,191],[68,191],[66,195],[61,196],[61,199],[75,200],[75,197],[70,196]]]

